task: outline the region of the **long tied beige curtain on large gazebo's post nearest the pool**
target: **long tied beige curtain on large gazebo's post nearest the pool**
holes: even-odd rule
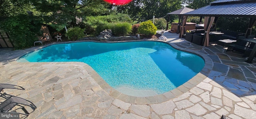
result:
[[[204,17],[204,46],[209,46],[209,40],[210,40],[210,29],[212,26],[212,23],[214,22],[215,17]]]

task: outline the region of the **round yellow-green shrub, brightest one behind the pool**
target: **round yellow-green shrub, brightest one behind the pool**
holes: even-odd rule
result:
[[[138,32],[144,35],[155,35],[156,30],[156,26],[150,20],[140,23],[140,27],[138,28]]]

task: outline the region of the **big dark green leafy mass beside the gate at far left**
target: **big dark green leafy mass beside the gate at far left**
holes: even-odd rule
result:
[[[42,35],[41,23],[36,16],[20,14],[1,20],[0,28],[9,34],[14,49],[24,49],[32,47],[34,41],[38,41],[37,36]]]

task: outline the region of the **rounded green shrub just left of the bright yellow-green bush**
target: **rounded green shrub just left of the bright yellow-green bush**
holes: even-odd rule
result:
[[[112,34],[115,36],[124,36],[132,33],[132,25],[130,23],[116,23],[112,27]]]

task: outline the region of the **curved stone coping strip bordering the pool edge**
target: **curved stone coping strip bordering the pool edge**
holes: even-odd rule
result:
[[[40,50],[44,47],[48,47],[50,45],[55,45],[55,44],[64,44],[64,43],[78,43],[78,42],[98,42],[98,43],[120,43],[120,42],[137,42],[137,41],[156,41],[152,39],[146,39],[146,40],[131,40],[131,41],[109,41],[109,42],[100,42],[100,41],[68,41],[68,42],[59,42],[59,43],[51,43],[48,45],[44,45],[42,47],[36,47],[36,49],[32,49],[30,52],[26,52],[25,54],[21,54],[22,56],[27,55],[28,53],[31,53],[33,51]],[[174,49],[178,49],[180,51],[185,51],[188,53],[193,53],[195,55],[198,55],[204,59],[205,65],[202,68],[202,70],[196,74],[196,76],[192,77],[190,80],[185,82],[184,84],[178,86],[174,90],[171,90],[169,92],[166,92],[164,94],[158,94],[156,96],[148,96],[148,97],[136,97],[136,96],[128,96],[126,94],[122,94],[121,92],[118,92],[114,88],[112,88],[91,66],[84,62],[70,62],[71,64],[80,64],[86,70],[88,73],[94,78],[94,80],[98,83],[98,85],[105,91],[107,92],[110,96],[112,96],[115,99],[120,99],[122,101],[125,101],[127,103],[135,103],[135,104],[153,104],[153,103],[162,103],[164,101],[168,101],[170,99],[176,98],[185,92],[189,91],[190,89],[194,88],[197,84],[202,82],[204,79],[206,79],[212,70],[213,67],[213,62],[210,57],[207,55],[200,53],[198,51],[193,51],[190,49],[183,49],[181,47],[178,47],[175,43],[167,43],[164,41],[157,41],[157,42],[162,42],[169,44],[172,46]],[[20,56],[20,57],[22,57]],[[18,60],[20,57],[16,58],[15,60]],[[40,62],[41,63],[41,62]]]

